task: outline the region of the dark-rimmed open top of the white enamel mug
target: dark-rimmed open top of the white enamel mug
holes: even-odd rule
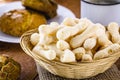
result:
[[[91,4],[98,4],[98,5],[113,5],[113,4],[120,4],[120,0],[82,0],[87,3]]]

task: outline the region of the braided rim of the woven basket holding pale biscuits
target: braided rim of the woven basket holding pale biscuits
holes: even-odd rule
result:
[[[72,65],[75,65],[75,66],[79,66],[79,65],[84,65],[86,63],[89,63],[89,64],[94,64],[94,63],[97,63],[97,62],[101,62],[101,61],[105,61],[106,59],[110,59],[111,57],[114,57],[114,56],[117,56],[119,54],[119,56],[117,56],[118,58],[120,57],[120,49],[117,50],[114,54],[111,54],[110,56],[108,57],[105,57],[105,58],[102,58],[102,59],[98,59],[98,60],[93,60],[92,62],[72,62],[72,63],[62,63],[60,61],[55,61],[55,60],[47,60],[45,58],[43,58],[42,56],[35,56],[36,54],[34,54],[29,48],[26,48],[26,45],[24,44],[24,41],[23,39],[26,38],[26,37],[29,37],[33,32],[37,31],[37,29],[32,29],[32,30],[29,30],[27,32],[25,32],[21,37],[20,37],[20,46],[21,48],[23,49],[23,51],[28,54],[29,56],[31,56],[35,61],[43,61],[45,63],[50,63],[50,64],[59,64],[59,65],[64,65],[64,66],[72,66]],[[116,58],[117,58],[116,57]]]

